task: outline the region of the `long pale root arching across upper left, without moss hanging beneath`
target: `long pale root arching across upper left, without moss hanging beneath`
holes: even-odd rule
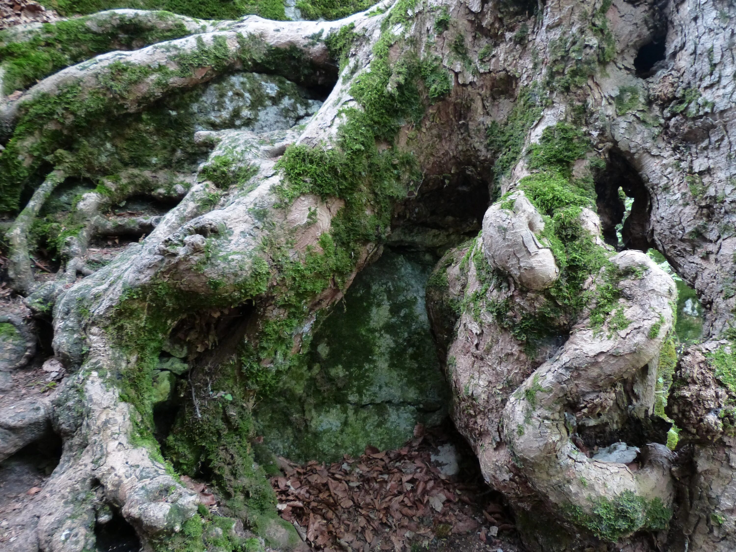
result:
[[[171,89],[189,88],[233,68],[263,70],[267,67],[276,73],[297,71],[296,75],[286,75],[291,78],[305,77],[298,71],[331,67],[325,39],[342,26],[355,24],[361,15],[331,22],[270,21],[252,15],[228,25],[226,31],[203,32],[132,52],[99,56],[95,63],[66,68],[43,79],[18,99],[0,104],[2,130],[7,135],[32,108],[34,100],[48,101],[48,95],[57,96],[74,85],[81,87],[82,93],[110,85],[113,97],[124,104],[121,106],[124,111],[130,112],[137,110],[141,102],[146,105]],[[67,116],[78,114],[72,112]]]

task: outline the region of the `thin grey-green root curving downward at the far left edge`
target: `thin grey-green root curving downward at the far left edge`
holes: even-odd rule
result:
[[[46,199],[49,199],[54,188],[64,178],[64,171],[60,169],[52,171],[35,191],[21,214],[15,218],[13,226],[7,231],[6,237],[9,245],[7,275],[10,286],[18,293],[27,294],[35,286],[28,249],[28,233],[33,221],[43,208],[43,204],[46,203]]]

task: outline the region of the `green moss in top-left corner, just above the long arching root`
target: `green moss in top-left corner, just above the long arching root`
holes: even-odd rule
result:
[[[137,49],[191,34],[169,12],[155,14],[159,24],[132,19],[124,29],[110,26],[95,32],[82,17],[45,23],[29,36],[16,41],[15,33],[0,31],[0,60],[4,67],[3,92],[9,94],[35,84],[65,67],[116,49]],[[160,25],[160,22],[167,22]]]

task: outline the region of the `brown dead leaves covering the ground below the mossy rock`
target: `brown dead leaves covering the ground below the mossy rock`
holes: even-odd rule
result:
[[[450,424],[330,465],[282,459],[281,516],[318,551],[522,552],[512,516]]]

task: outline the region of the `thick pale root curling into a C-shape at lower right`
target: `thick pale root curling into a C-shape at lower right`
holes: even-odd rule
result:
[[[624,251],[611,261],[622,275],[616,286],[623,298],[615,314],[600,328],[593,320],[595,305],[584,313],[562,350],[509,398],[503,427],[518,465],[539,494],[568,522],[615,541],[639,529],[666,526],[673,499],[671,453],[664,445],[648,445],[648,458],[636,472],[626,464],[588,459],[570,441],[565,422],[575,416],[567,405],[590,400],[657,358],[673,324],[676,288],[642,252]],[[609,285],[599,280],[592,286]],[[613,519],[621,512],[630,512],[626,523]]]

